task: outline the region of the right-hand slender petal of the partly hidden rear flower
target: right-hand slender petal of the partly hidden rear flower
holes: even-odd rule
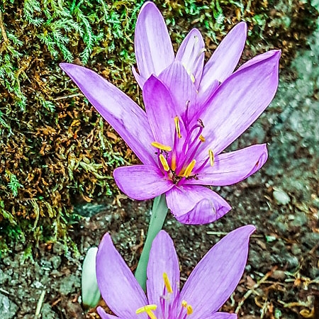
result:
[[[245,22],[238,23],[225,36],[203,69],[198,94],[206,91],[212,80],[217,79],[219,82],[224,82],[234,72],[242,50],[244,50],[246,36],[247,25]]]

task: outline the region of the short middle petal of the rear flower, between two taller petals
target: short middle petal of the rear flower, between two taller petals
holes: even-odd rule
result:
[[[182,65],[184,65],[193,79],[196,89],[201,81],[204,58],[205,43],[203,37],[197,29],[192,29],[181,43],[177,51],[176,60],[181,61]]]

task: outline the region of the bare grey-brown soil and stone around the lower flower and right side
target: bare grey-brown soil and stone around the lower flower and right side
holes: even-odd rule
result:
[[[211,225],[181,225],[170,215],[164,225],[177,247],[182,284],[225,233],[248,223],[256,226],[245,274],[223,306],[240,318],[319,318],[318,39],[319,32],[290,72],[282,74],[272,105],[230,147],[269,145],[269,160],[257,174],[215,189],[233,210]],[[79,303],[85,253],[108,231],[135,269],[151,205],[114,198],[77,206],[83,216],[72,225],[78,253],[47,243],[32,258],[23,245],[13,247],[0,260],[1,319],[99,318],[94,309],[84,313]]]

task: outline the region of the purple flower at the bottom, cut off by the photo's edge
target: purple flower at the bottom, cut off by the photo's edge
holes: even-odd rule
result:
[[[171,237],[161,230],[152,243],[147,265],[147,296],[133,273],[104,235],[96,256],[96,276],[101,295],[121,319],[235,319],[217,312],[235,290],[247,262],[250,235],[246,225],[233,230],[196,265],[179,291],[179,260]],[[103,319],[115,319],[99,307]]]

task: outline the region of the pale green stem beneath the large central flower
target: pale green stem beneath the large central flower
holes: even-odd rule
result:
[[[142,254],[140,255],[138,267],[135,270],[135,278],[144,290],[146,289],[146,269],[148,259],[150,257],[150,249],[152,247],[152,242],[156,235],[159,233],[159,230],[162,229],[166,216],[167,203],[165,195],[157,196],[154,199],[152,216],[150,218],[150,226],[147,230],[145,244],[142,250]]]

